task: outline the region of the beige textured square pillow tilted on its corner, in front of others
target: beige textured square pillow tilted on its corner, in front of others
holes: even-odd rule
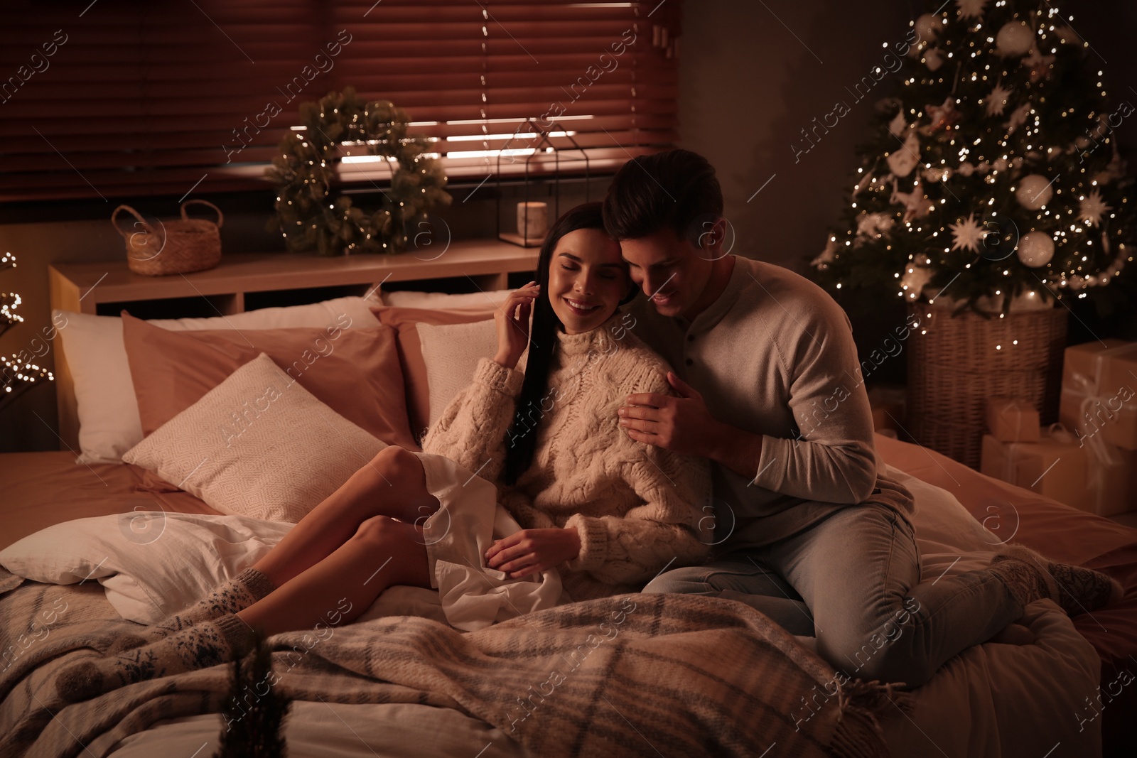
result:
[[[123,460],[223,514],[298,522],[385,447],[262,352]]]

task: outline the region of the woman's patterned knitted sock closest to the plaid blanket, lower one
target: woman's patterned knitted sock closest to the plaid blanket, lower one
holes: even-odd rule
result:
[[[69,666],[59,672],[56,690],[66,702],[88,700],[134,682],[242,658],[252,649],[252,639],[249,625],[233,614],[198,622],[123,655],[89,658]]]

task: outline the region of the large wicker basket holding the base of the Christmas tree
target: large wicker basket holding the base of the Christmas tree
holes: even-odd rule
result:
[[[984,318],[910,303],[920,319],[908,339],[908,432],[920,444],[979,467],[988,398],[1021,398],[1040,420],[1057,420],[1067,310]]]

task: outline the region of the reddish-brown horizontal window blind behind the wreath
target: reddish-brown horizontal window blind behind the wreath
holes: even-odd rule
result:
[[[501,172],[523,172],[526,118],[562,126],[591,170],[675,141],[678,0],[16,6],[0,28],[0,201],[267,189],[298,106],[348,85],[405,109],[450,177],[492,175],[501,150]],[[340,170],[349,184],[379,168]]]

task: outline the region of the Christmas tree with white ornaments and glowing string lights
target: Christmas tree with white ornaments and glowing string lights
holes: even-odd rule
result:
[[[1111,106],[1088,43],[1048,0],[937,6],[877,106],[816,278],[1004,314],[1093,291],[1110,310],[1137,282],[1122,274],[1135,203],[1113,136],[1132,106]]]

